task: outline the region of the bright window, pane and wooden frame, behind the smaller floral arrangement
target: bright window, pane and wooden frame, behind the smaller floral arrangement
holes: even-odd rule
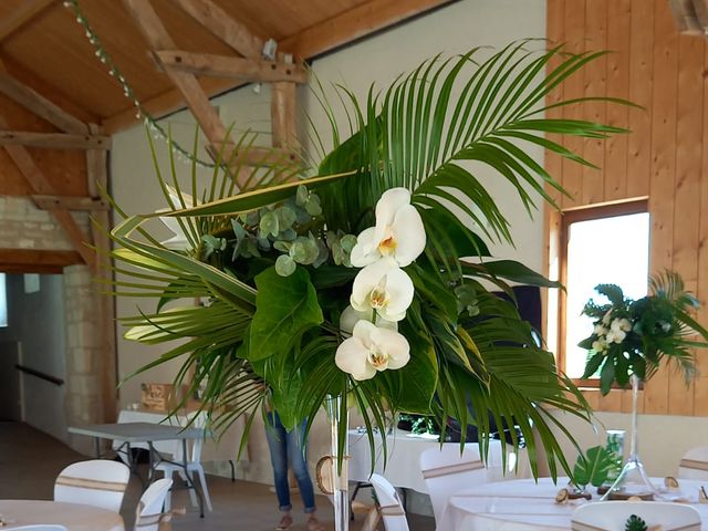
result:
[[[646,294],[649,263],[649,214],[645,200],[564,212],[561,219],[560,272],[566,292],[559,298],[559,364],[580,378],[587,351],[577,343],[592,332],[581,315],[595,285],[613,283],[626,296]]]

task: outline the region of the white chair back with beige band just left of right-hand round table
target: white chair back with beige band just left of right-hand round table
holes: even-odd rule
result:
[[[476,442],[465,445],[461,454],[459,442],[428,448],[420,454],[420,471],[430,493],[436,522],[442,518],[442,511],[451,496],[488,480]]]

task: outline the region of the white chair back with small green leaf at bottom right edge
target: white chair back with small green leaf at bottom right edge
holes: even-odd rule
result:
[[[700,514],[683,503],[662,501],[598,501],[580,506],[573,512],[573,531],[616,531],[624,529],[632,514],[644,520],[649,529],[663,531],[700,531]]]

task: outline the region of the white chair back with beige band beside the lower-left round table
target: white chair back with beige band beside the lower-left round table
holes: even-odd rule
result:
[[[54,481],[54,500],[101,507],[121,512],[131,469],[117,461],[93,459],[74,462]]]

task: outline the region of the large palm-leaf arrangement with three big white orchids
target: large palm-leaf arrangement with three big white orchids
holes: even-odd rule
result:
[[[216,428],[254,418],[268,393],[287,427],[312,423],[337,397],[342,414],[360,408],[372,446],[374,428],[409,413],[436,417],[442,430],[456,418],[462,441],[473,421],[486,449],[493,418],[499,429],[519,427],[532,470],[533,426],[552,473],[556,462],[570,473],[546,408],[586,417],[586,404],[514,303],[492,292],[513,300],[510,282],[559,284],[491,257],[487,242],[512,238],[478,176],[510,183],[531,214],[532,195],[553,204],[542,183],[563,190],[525,146],[589,165],[544,135],[623,129],[543,117],[546,94],[602,53],[530,44],[435,58],[365,102],[333,87],[347,102],[344,131],[320,91],[331,147],[311,131],[296,164],[247,167],[221,153],[204,184],[195,167],[186,178],[156,163],[168,208],[125,215],[112,231],[117,291],[158,300],[124,319],[126,336],[169,345],[145,368],[181,358],[177,379],[194,374],[188,384],[204,389]],[[237,139],[233,153],[252,142]],[[150,235],[155,217],[174,238]]]

